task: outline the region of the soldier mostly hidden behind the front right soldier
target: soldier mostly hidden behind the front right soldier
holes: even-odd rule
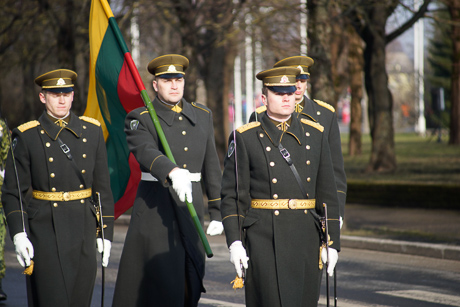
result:
[[[296,79],[295,112],[297,113],[297,117],[318,122],[324,127],[324,134],[327,136],[329,142],[332,165],[334,167],[334,178],[337,186],[337,197],[339,199],[340,208],[340,228],[342,228],[347,197],[347,177],[343,165],[339,124],[333,106],[321,100],[311,100],[305,95],[307,80],[310,79],[308,67],[312,66],[313,63],[313,59],[310,57],[292,56],[278,61],[273,67],[288,66],[300,69],[300,74]],[[263,114],[265,109],[265,106],[257,108],[256,112],[251,115],[250,121],[255,121],[257,117]]]

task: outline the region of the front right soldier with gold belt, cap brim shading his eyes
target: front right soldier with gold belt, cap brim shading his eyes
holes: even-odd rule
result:
[[[314,213],[324,215],[323,203],[332,242],[329,274],[340,249],[339,206],[324,127],[293,113],[298,74],[293,67],[257,74],[267,110],[259,122],[238,128],[229,139],[221,212],[231,262],[239,276],[247,268],[247,306],[317,306],[321,242]]]

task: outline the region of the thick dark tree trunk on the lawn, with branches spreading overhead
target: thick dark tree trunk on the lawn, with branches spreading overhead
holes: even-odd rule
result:
[[[386,10],[384,4],[375,5],[373,23],[364,49],[366,91],[369,98],[369,124],[372,152],[366,172],[393,172],[396,154],[393,128],[393,98],[388,89],[385,67]]]

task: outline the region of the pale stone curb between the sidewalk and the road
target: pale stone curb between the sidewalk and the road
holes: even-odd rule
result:
[[[340,245],[349,248],[460,261],[460,246],[447,244],[430,244],[342,235],[340,237]]]

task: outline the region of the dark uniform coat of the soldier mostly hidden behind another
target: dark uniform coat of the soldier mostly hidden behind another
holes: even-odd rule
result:
[[[303,96],[299,103],[303,107],[297,114],[298,118],[310,119],[321,124],[324,127],[324,134],[329,142],[332,166],[334,167],[334,178],[337,186],[337,197],[339,199],[340,216],[345,217],[345,202],[347,198],[347,176],[343,165],[342,143],[340,141],[340,130],[337,121],[337,114],[334,107],[320,100],[311,100]],[[297,109],[297,108],[296,108]],[[265,107],[260,107],[256,112],[251,114],[250,122],[260,120]],[[259,113],[260,112],[260,113]],[[257,115],[256,115],[257,114]]]

